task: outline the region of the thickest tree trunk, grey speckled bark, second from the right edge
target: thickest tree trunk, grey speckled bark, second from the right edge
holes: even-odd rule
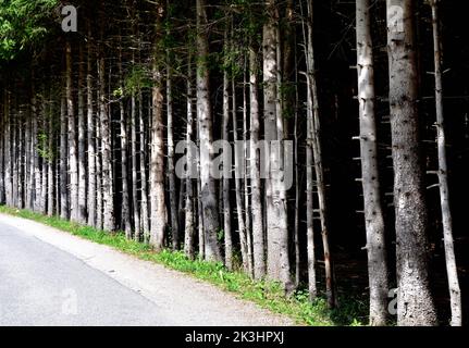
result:
[[[428,273],[427,204],[420,161],[414,3],[387,0],[390,107],[396,210],[397,324],[436,325]]]

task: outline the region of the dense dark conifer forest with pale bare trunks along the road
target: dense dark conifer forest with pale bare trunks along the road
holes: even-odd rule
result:
[[[456,0],[1,0],[0,204],[331,309],[367,298],[370,325],[460,326],[464,16]]]

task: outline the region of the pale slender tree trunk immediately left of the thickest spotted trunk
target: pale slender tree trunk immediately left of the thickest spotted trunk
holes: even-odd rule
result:
[[[387,282],[384,219],[378,171],[377,121],[374,115],[373,45],[370,0],[357,0],[357,70],[360,113],[361,178],[367,228],[370,325],[386,325]]]

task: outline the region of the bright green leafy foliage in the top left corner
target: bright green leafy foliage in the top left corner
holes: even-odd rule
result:
[[[58,0],[0,0],[0,60],[13,60],[47,34]]]

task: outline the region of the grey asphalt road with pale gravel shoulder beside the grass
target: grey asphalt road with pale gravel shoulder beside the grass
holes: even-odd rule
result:
[[[0,325],[293,325],[221,289],[0,214]]]

